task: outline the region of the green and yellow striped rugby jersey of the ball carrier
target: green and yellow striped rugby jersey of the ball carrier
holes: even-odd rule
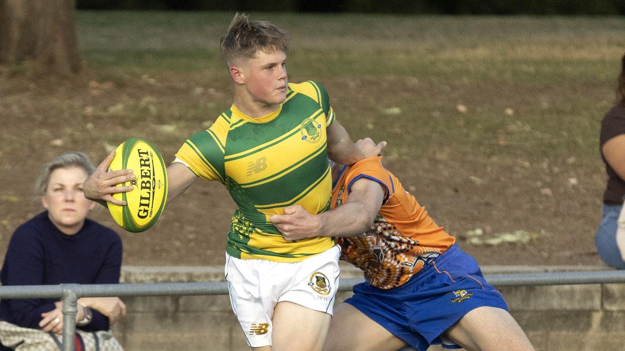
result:
[[[219,180],[238,209],[226,252],[241,259],[296,262],[323,252],[332,238],[287,242],[269,217],[299,204],[312,214],[329,209],[332,177],[326,127],[334,121],[326,90],[316,82],[289,84],[286,100],[252,119],[234,105],[176,153],[197,176]]]

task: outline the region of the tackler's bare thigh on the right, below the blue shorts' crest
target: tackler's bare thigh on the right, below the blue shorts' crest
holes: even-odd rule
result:
[[[516,320],[497,307],[471,310],[443,336],[469,351],[534,351]]]

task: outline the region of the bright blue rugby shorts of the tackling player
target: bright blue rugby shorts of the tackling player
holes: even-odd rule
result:
[[[501,293],[484,280],[476,260],[457,244],[403,285],[379,289],[367,282],[357,284],[345,302],[419,351],[437,344],[459,349],[441,334],[477,307],[508,310]]]

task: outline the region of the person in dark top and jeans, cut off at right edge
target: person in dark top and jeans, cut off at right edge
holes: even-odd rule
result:
[[[599,144],[608,179],[603,196],[603,219],[595,236],[599,257],[616,269],[625,269],[625,238],[617,240],[616,235],[625,197],[625,55],[621,61],[617,103],[601,122]]]

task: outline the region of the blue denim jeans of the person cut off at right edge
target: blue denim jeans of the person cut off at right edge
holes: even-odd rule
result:
[[[621,252],[616,245],[617,219],[621,208],[621,205],[603,205],[603,218],[594,237],[597,253],[601,260],[616,269],[625,269],[625,262],[623,262]]]

